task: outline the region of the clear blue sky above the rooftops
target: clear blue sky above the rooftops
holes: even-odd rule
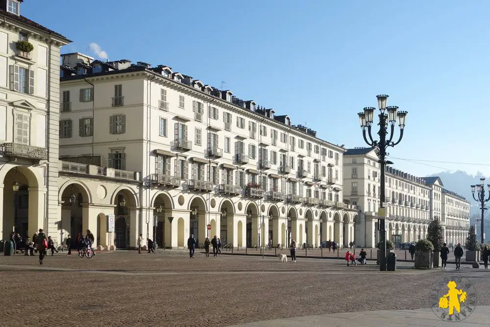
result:
[[[96,43],[110,60],[169,65],[218,88],[225,81],[235,96],[347,148],[365,146],[357,113],[388,94],[409,112],[389,152],[415,159],[391,160],[418,176],[490,175],[489,9],[485,0],[22,4],[24,16],[73,40],[62,52]]]

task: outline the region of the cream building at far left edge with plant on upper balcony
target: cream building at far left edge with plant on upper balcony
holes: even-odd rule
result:
[[[55,231],[60,47],[63,35],[0,0],[0,228],[2,239]]]

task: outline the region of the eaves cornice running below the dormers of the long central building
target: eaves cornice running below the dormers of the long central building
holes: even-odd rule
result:
[[[91,77],[101,77],[101,76],[104,76],[104,75],[116,75],[116,74],[127,74],[127,73],[132,73],[132,72],[143,72],[145,71],[147,74],[150,74],[150,75],[155,75],[156,77],[159,77],[159,78],[162,78],[164,80],[168,80],[168,81],[171,81],[172,83],[177,83],[176,81],[174,81],[172,78],[169,78],[169,77],[166,77],[166,76],[163,76],[161,74],[158,74],[156,72],[153,72],[152,70],[150,69],[147,69],[143,66],[133,66],[131,68],[126,68],[126,69],[123,69],[123,70],[116,70],[116,71],[111,71],[111,72],[102,72],[102,73],[99,73],[99,74],[92,74],[90,76],[87,76],[87,75],[74,75],[74,76],[68,76],[68,77],[61,77],[60,78],[60,82],[61,81],[72,81],[72,80],[77,80],[77,79],[90,79]],[[197,90],[196,88],[192,87],[192,86],[189,86],[187,84],[183,84],[183,83],[179,83],[178,84],[179,86],[181,87],[184,87],[184,88],[187,88],[189,89],[189,91],[194,91],[194,92],[199,92],[202,96],[204,97],[208,97],[209,99],[213,99],[213,101],[220,101],[222,102],[223,104],[226,104],[226,105],[231,105],[237,109],[240,109],[240,110],[246,110],[245,108],[243,107],[240,107],[234,103],[231,103],[231,102],[227,102],[227,101],[224,101],[222,100],[221,98],[218,98],[218,97],[214,97],[212,95],[209,95],[207,93],[204,93],[202,92],[201,90]],[[325,141],[323,139],[320,139],[319,137],[316,137],[316,136],[312,136],[312,135],[309,135],[308,133],[306,132],[303,132],[299,129],[294,129],[292,126],[288,126],[286,124],[283,124],[275,119],[271,119],[269,117],[266,117],[266,116],[262,116],[256,112],[253,112],[253,111],[250,111],[250,110],[246,110],[247,113],[250,113],[252,115],[255,115],[257,117],[260,117],[262,120],[268,120],[270,122],[273,122],[273,123],[276,123],[276,124],[280,124],[282,126],[286,126],[288,128],[290,128],[291,130],[294,130],[294,131],[297,131],[298,133],[301,133],[301,134],[304,134],[305,136],[308,136],[308,137],[311,137],[313,139],[316,139],[316,140],[319,140],[323,143],[326,143],[326,145],[332,147],[332,148],[335,148],[336,150],[340,151],[342,154],[343,152],[347,151],[345,148],[341,148],[337,145],[334,145],[328,141]]]

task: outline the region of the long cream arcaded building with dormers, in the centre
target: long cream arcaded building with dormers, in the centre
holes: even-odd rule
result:
[[[353,240],[345,150],[286,115],[168,66],[81,53],[62,55],[60,101],[64,233],[134,247],[156,216],[157,243],[174,248],[190,234],[234,247]]]

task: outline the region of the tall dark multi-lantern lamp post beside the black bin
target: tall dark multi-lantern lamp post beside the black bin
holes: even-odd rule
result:
[[[361,124],[361,128],[363,130],[363,138],[366,144],[370,147],[378,148],[378,163],[380,165],[379,169],[381,171],[381,186],[379,192],[379,201],[380,201],[380,212],[382,213],[382,217],[378,219],[378,230],[380,231],[380,242],[379,242],[379,252],[381,254],[381,258],[379,260],[379,270],[386,271],[386,229],[385,229],[385,217],[384,213],[385,208],[385,165],[393,164],[391,161],[386,160],[386,156],[389,153],[386,151],[388,147],[394,147],[398,143],[401,142],[403,138],[403,130],[405,128],[405,119],[407,117],[407,111],[398,111],[397,106],[386,106],[386,102],[388,100],[387,95],[378,95],[376,96],[378,99],[378,108],[379,108],[379,141],[372,139],[371,134],[371,126],[373,124],[373,116],[374,107],[366,107],[364,108],[364,112],[358,113],[359,122]],[[396,118],[398,118],[398,126],[400,127],[400,136],[398,141],[393,142],[393,135],[395,129]],[[390,131],[388,131],[388,126],[390,126]],[[368,139],[369,137],[369,139]]]

